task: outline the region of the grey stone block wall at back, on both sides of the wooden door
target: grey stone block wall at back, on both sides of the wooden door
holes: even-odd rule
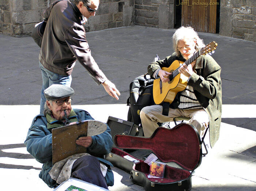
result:
[[[55,0],[0,0],[0,34],[29,35]],[[174,0],[100,0],[87,32],[133,24],[174,28]],[[219,34],[256,42],[256,0],[221,0]]]

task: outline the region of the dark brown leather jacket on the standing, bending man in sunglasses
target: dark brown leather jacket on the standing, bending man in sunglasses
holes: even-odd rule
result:
[[[71,75],[78,60],[96,83],[103,83],[107,78],[91,56],[78,7],[69,0],[53,3],[43,19],[47,24],[39,54],[42,65],[54,73]]]

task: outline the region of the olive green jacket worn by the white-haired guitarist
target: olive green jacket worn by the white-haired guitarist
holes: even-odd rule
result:
[[[174,52],[164,60],[150,63],[148,73],[152,77],[155,70],[169,67],[175,60],[185,62],[182,56],[176,56]],[[191,75],[188,85],[193,87],[197,100],[209,116],[210,143],[213,147],[219,139],[221,126],[221,67],[210,55],[199,56],[196,59],[195,71]]]

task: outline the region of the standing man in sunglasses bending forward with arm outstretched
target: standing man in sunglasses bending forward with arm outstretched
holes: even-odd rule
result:
[[[43,13],[47,22],[39,54],[42,71],[40,113],[46,101],[44,90],[52,84],[71,85],[71,73],[78,60],[94,81],[118,100],[120,92],[110,82],[91,56],[82,22],[95,15],[99,0],[61,0]]]

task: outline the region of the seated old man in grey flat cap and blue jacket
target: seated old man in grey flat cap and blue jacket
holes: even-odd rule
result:
[[[44,94],[44,115],[35,116],[27,133],[25,145],[27,151],[43,163],[39,177],[52,188],[65,180],[63,177],[53,177],[54,173],[51,172],[56,164],[52,164],[52,129],[74,124],[79,120],[94,119],[85,110],[72,109],[71,95],[74,94],[74,90],[71,87],[53,84],[45,89]],[[106,189],[113,186],[114,176],[110,168],[112,164],[103,159],[103,155],[108,154],[113,145],[109,126],[107,125],[105,132],[99,135],[79,137],[76,144],[86,147],[87,153],[76,157],[76,160],[72,161],[73,165],[65,166],[69,168],[70,173],[64,172],[62,175],[67,177],[66,179],[77,178]]]

